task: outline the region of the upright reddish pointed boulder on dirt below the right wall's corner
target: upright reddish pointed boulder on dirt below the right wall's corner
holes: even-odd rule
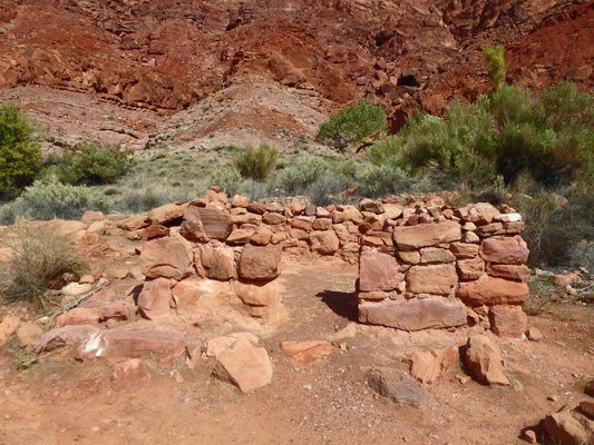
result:
[[[505,375],[504,360],[497,346],[488,337],[484,335],[470,337],[464,360],[480,382],[489,385],[509,385]]]

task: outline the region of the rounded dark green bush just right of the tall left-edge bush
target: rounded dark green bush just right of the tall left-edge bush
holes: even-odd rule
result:
[[[126,171],[127,155],[116,146],[82,144],[50,159],[48,172],[70,185],[114,184]]]

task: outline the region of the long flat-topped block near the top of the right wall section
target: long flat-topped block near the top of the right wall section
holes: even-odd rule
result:
[[[461,226],[456,221],[449,220],[437,224],[396,227],[393,230],[393,241],[399,249],[403,250],[431,247],[440,243],[459,241],[461,237]]]

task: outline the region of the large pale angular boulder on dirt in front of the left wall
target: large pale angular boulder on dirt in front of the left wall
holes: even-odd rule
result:
[[[240,339],[233,349],[218,354],[213,375],[249,393],[272,382],[272,362],[266,349]]]

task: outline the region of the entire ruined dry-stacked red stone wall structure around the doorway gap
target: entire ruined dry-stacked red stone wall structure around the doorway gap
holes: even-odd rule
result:
[[[213,188],[204,198],[105,229],[148,240],[142,250],[147,281],[138,298],[147,317],[169,307],[191,313],[210,294],[232,295],[252,316],[269,319],[280,299],[284,253],[359,263],[362,323],[418,330],[469,322],[519,336],[529,274],[523,228],[508,206],[452,208],[434,195],[317,207],[304,197],[282,204],[230,199]],[[172,298],[159,306],[154,294],[167,287]]]

